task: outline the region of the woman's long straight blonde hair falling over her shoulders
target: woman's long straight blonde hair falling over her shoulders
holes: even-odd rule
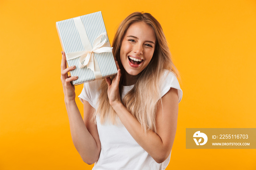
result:
[[[120,60],[121,42],[129,26],[136,22],[144,22],[152,27],[156,36],[156,45],[150,63],[139,74],[136,84],[125,95],[122,103],[133,117],[139,121],[145,132],[149,129],[156,132],[155,116],[158,104],[161,101],[159,88],[163,72],[167,69],[178,77],[178,71],[173,65],[170,50],[160,23],[150,13],[134,12],[120,23],[112,44],[113,55],[116,57],[121,70],[119,89],[121,84],[124,83],[124,67]],[[115,124],[117,114],[109,104],[108,85],[105,80],[102,81],[99,92],[101,94],[98,99],[94,120],[98,115],[101,123],[109,119]]]

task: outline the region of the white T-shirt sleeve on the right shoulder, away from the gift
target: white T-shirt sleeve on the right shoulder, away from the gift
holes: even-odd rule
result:
[[[178,79],[176,76],[172,73],[166,70],[162,77],[162,84],[161,84],[161,97],[163,97],[169,90],[170,88],[174,88],[178,90],[178,100],[179,103],[182,98],[182,90],[180,88],[180,84],[178,82]]]

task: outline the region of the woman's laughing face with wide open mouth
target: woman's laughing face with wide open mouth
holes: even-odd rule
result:
[[[129,26],[120,49],[121,63],[130,75],[125,77],[137,76],[147,67],[153,57],[155,44],[155,33],[148,24],[136,22]]]

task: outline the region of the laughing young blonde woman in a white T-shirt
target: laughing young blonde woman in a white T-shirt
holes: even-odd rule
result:
[[[182,90],[165,35],[149,13],[123,20],[113,40],[118,73],[85,83],[75,103],[62,52],[61,81],[73,143],[94,170],[163,170],[170,161]]]

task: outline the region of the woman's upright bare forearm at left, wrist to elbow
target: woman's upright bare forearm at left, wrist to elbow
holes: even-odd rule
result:
[[[93,164],[98,160],[100,146],[97,146],[93,136],[87,130],[75,100],[65,99],[65,105],[74,146],[84,162]]]

